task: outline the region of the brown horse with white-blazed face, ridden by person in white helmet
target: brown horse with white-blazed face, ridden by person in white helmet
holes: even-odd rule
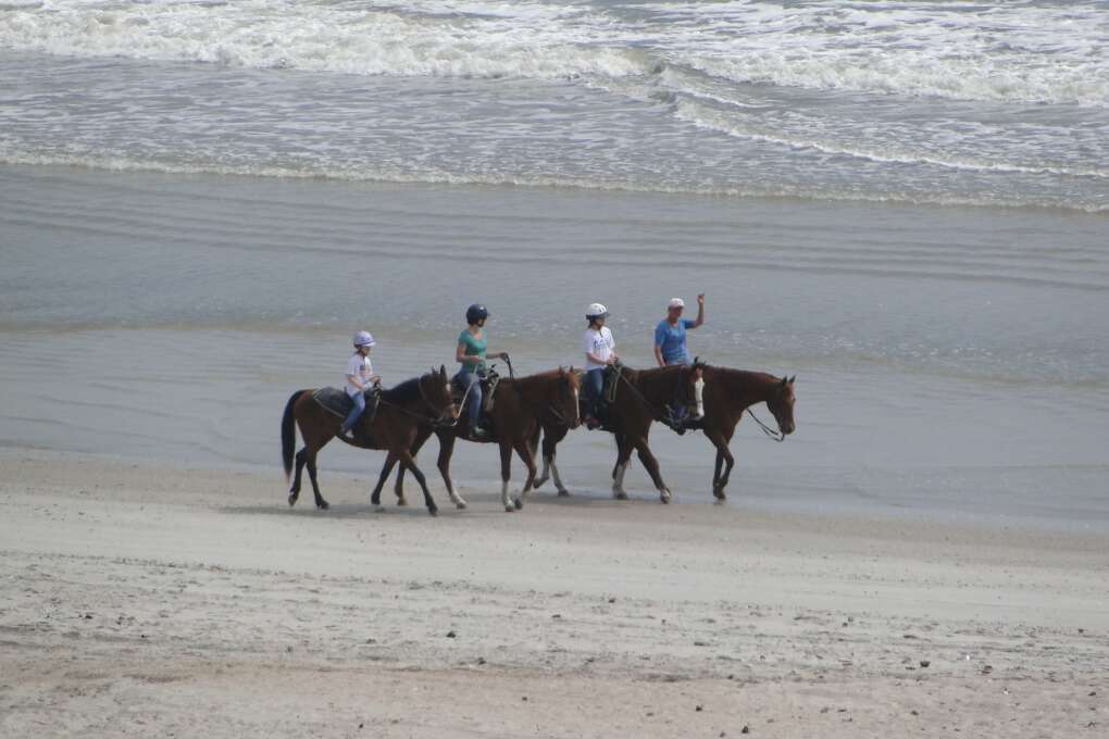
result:
[[[609,404],[609,430],[617,440],[617,463],[612,469],[612,494],[618,500],[628,500],[628,493],[623,489],[623,476],[628,471],[632,451],[639,452],[639,459],[647,468],[651,481],[659,491],[659,499],[663,503],[669,503],[671,499],[670,489],[662,481],[662,473],[659,470],[659,461],[651,453],[648,444],[648,435],[651,432],[651,422],[665,422],[669,417],[669,407],[673,403],[684,404],[692,408],[696,404],[696,382],[702,379],[704,365],[695,361],[693,365],[678,365],[672,367],[654,368],[649,370],[633,370],[621,367],[620,377],[617,380],[615,398]],[[709,381],[705,380],[705,391]],[[705,401],[708,402],[708,401]],[[543,429],[543,474],[535,483],[538,487],[547,481],[548,470],[554,475],[554,484],[558,486],[559,495],[567,495],[566,487],[559,479],[558,468],[554,465],[556,447],[566,438],[569,429],[564,424],[552,424]],[[539,435],[532,438],[531,448],[539,443]]]

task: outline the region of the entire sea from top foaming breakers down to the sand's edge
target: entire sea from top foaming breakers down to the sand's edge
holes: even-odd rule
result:
[[[741,425],[733,504],[1106,527],[1107,18],[0,0],[0,443],[276,468],[356,329],[395,382],[481,300],[530,372],[580,363],[601,300],[648,366],[704,291],[694,353],[798,377],[793,438]],[[708,502],[705,441],[655,448]],[[607,494],[610,439],[561,454]],[[497,486],[492,449],[455,469]]]

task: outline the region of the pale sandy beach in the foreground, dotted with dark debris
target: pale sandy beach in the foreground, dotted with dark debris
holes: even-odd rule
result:
[[[1100,535],[8,449],[4,737],[1100,737]],[[434,492],[445,500],[441,486]]]

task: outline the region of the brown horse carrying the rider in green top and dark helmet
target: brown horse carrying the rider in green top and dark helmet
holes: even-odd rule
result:
[[[442,482],[447,485],[447,491],[451,496],[457,497],[455,485],[450,480],[450,456],[454,453],[455,440],[465,439],[467,441],[496,442],[500,445],[500,502],[506,511],[516,511],[523,507],[523,500],[528,491],[535,484],[536,462],[535,444],[532,439],[539,435],[539,431],[547,425],[561,424],[566,429],[574,429],[581,422],[579,414],[580,380],[578,373],[571,367],[564,370],[561,367],[557,370],[540,372],[521,378],[502,378],[497,386],[494,396],[492,408],[489,410],[489,422],[491,433],[486,439],[472,439],[469,429],[465,424],[457,424],[451,428],[440,428],[435,430],[439,437],[439,472],[442,474]],[[411,450],[416,454],[420,447],[427,441],[430,430],[417,439]],[[511,473],[512,451],[519,455],[523,464],[528,468],[528,479],[523,483],[520,496],[513,501],[508,497],[508,480]],[[377,489],[374,490],[372,502],[377,504],[380,501],[381,485],[388,476],[389,471],[396,460],[393,454],[385,460],[385,468],[381,470],[381,478]],[[397,472],[397,502],[405,505],[404,499],[404,468]],[[460,497],[458,499],[461,500]],[[465,502],[460,504],[465,505]]]

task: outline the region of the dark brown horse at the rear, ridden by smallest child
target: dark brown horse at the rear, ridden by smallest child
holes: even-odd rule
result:
[[[425,431],[430,433],[431,428],[458,419],[458,408],[450,397],[450,381],[447,379],[445,367],[433,369],[423,377],[406,380],[390,390],[383,391],[373,421],[356,427],[359,433],[354,441],[339,437],[343,419],[321,408],[312,398],[312,393],[313,390],[294,392],[285,404],[285,414],[282,418],[282,461],[285,463],[286,480],[293,472],[293,447],[296,443],[294,423],[299,427],[301,435],[304,438],[304,447],[296,453],[296,476],[288,493],[289,505],[294,505],[301,495],[301,472],[307,465],[312,490],[316,494],[316,506],[327,509],[327,501],[319,494],[319,484],[316,481],[316,453],[334,437],[338,437],[352,447],[389,450],[389,459],[395,456],[400,460],[401,464],[416,475],[416,481],[424,490],[424,502],[427,504],[428,513],[431,515],[438,513],[438,507],[427,490],[427,480],[416,466],[415,455],[409,450],[420,433]],[[363,431],[368,433],[368,437]],[[454,492],[450,496],[455,500]],[[459,500],[455,502],[461,507]]]

